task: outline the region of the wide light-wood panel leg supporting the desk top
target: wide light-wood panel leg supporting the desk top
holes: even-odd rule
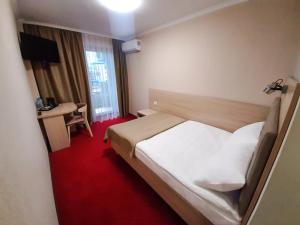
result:
[[[70,146],[63,116],[44,118],[43,122],[53,152]]]

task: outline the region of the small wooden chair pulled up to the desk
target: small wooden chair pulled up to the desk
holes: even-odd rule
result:
[[[77,114],[70,117],[70,119],[67,121],[66,126],[68,129],[69,134],[69,142],[71,142],[71,130],[70,127],[76,124],[84,124],[86,126],[86,129],[90,133],[90,136],[93,137],[92,130],[90,128],[88,119],[87,119],[87,105],[85,103],[78,103],[77,104]]]

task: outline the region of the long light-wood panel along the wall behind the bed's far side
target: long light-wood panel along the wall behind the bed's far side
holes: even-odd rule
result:
[[[150,89],[150,108],[203,122],[230,132],[264,121],[269,108],[220,98]]]

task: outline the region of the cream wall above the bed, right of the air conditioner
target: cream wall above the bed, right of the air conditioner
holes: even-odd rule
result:
[[[249,0],[140,37],[130,112],[148,107],[149,88],[269,105],[263,87],[294,72],[299,2]]]

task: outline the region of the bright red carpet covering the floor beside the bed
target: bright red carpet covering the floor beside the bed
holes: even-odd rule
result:
[[[70,148],[50,153],[60,225],[184,224],[179,216],[102,139],[115,119],[83,129]]]

